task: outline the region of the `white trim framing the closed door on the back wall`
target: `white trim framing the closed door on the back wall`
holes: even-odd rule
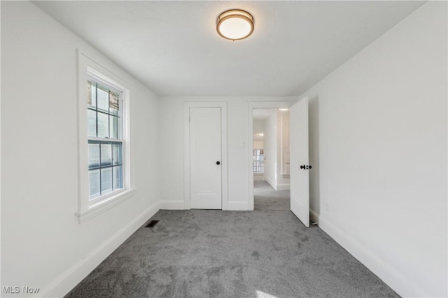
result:
[[[221,108],[221,206],[228,210],[227,102],[185,101],[183,103],[183,190],[184,208],[190,210],[190,108]]]

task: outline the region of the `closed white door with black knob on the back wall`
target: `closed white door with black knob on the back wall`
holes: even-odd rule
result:
[[[221,178],[221,108],[190,108],[190,208],[221,209]]]

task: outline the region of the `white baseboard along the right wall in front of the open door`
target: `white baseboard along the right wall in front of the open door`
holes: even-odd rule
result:
[[[370,269],[381,281],[391,287],[398,295],[402,297],[432,297],[424,290],[416,288],[414,283],[411,283],[400,272],[391,268],[383,262],[379,257],[374,255],[370,250],[362,246],[358,241],[351,238],[342,229],[337,228],[332,222],[319,218],[319,227],[323,229],[332,239],[335,239],[343,248],[345,248],[353,257],[363,263],[365,267]]]

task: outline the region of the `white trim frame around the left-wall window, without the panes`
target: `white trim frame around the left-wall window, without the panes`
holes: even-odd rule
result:
[[[89,200],[87,167],[87,78],[123,92],[123,188],[97,199]],[[94,59],[78,50],[78,211],[79,223],[103,213],[128,199],[135,191],[132,175],[132,146],[130,140],[130,93],[132,85]]]

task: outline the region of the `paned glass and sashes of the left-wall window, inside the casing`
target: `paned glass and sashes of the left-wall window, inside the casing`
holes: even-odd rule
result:
[[[87,80],[89,200],[123,188],[123,92]]]

